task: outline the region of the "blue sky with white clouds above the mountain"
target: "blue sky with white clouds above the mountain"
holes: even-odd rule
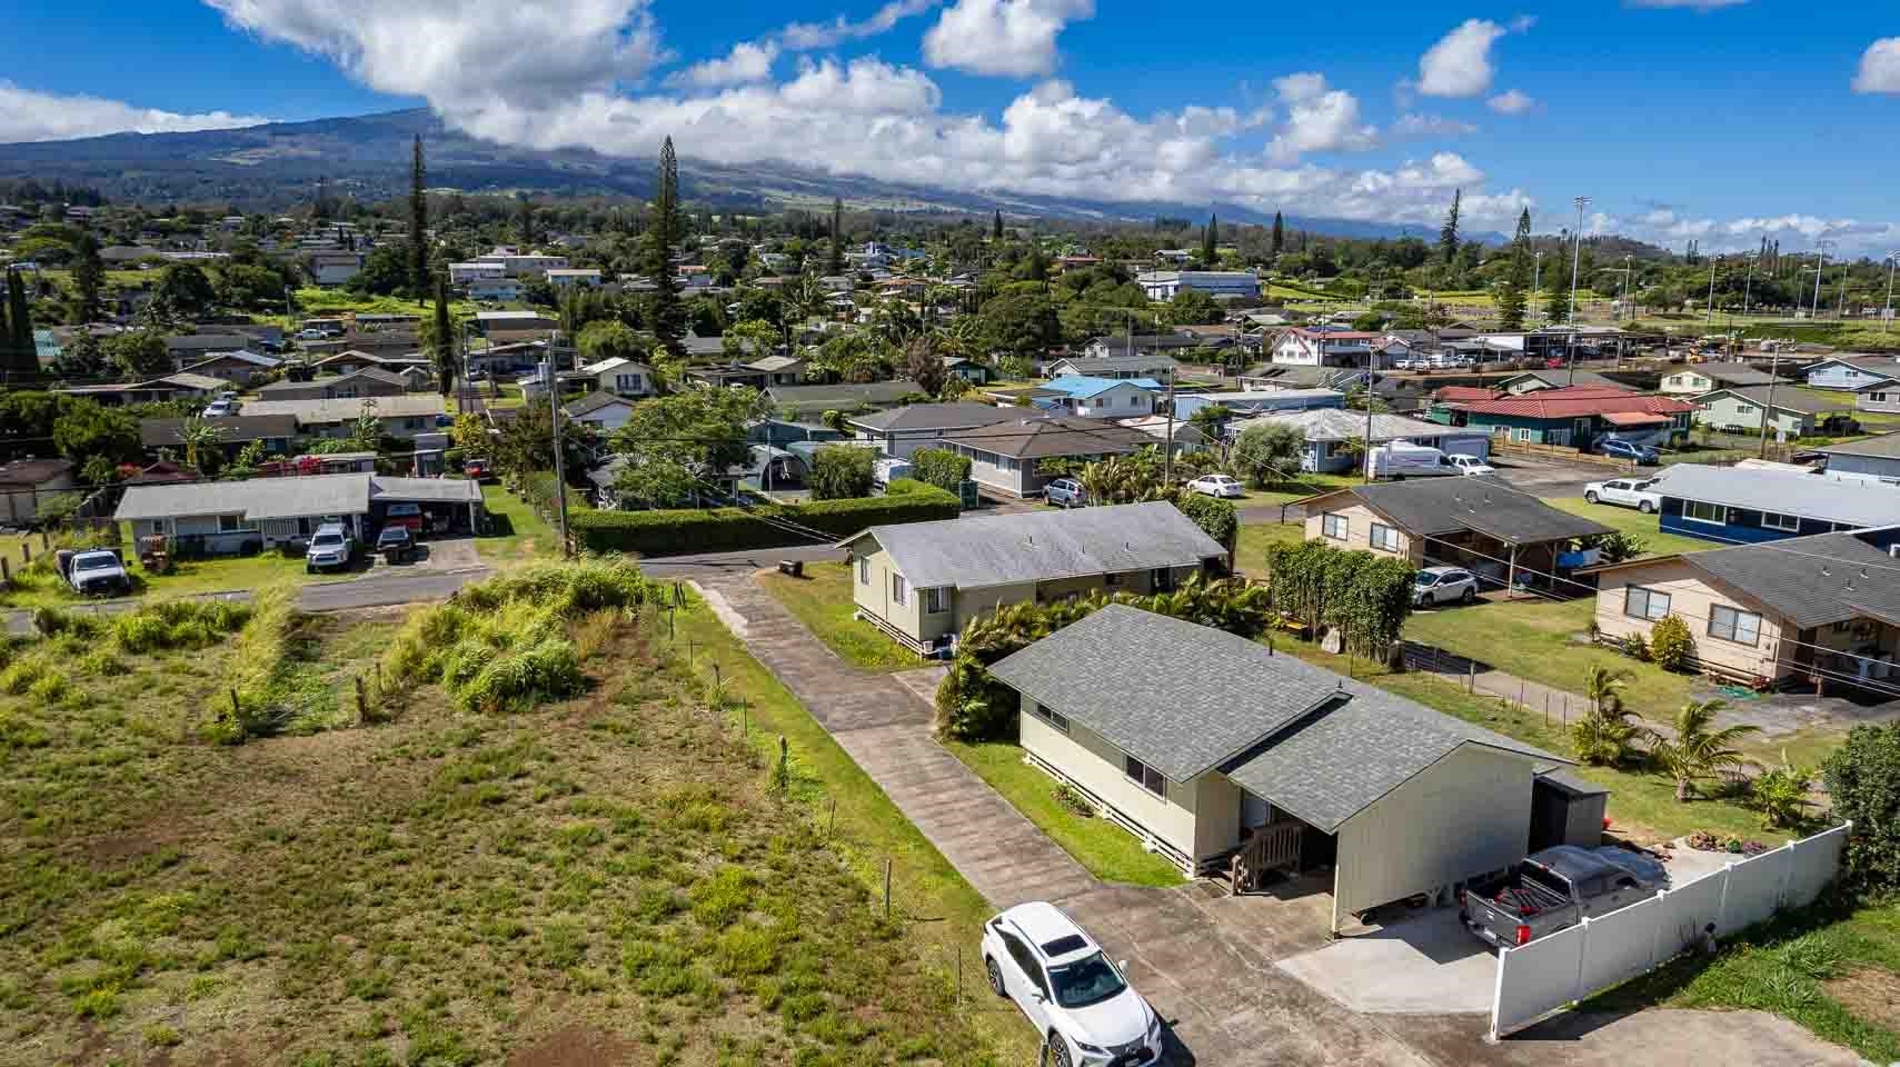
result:
[[[1900,9],[1786,0],[13,0],[0,139],[429,104],[984,192],[1900,247]],[[802,23],[802,25],[794,25]],[[737,51],[735,51],[737,46]]]

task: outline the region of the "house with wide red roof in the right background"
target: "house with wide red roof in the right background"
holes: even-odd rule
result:
[[[1433,421],[1482,427],[1533,444],[1590,448],[1604,437],[1632,444],[1668,444],[1689,431],[1700,408],[1676,397],[1653,397],[1607,385],[1537,389],[1492,401],[1440,402]]]

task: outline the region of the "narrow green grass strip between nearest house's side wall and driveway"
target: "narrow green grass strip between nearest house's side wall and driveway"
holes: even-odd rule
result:
[[[1056,780],[1022,761],[1022,748],[946,742],[952,754],[1016,811],[1062,845],[1075,862],[1104,881],[1129,885],[1180,885],[1180,868],[1142,849],[1132,833],[1096,814],[1077,814],[1056,799]]]

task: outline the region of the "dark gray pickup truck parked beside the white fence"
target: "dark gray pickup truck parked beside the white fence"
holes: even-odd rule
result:
[[[1662,864],[1628,849],[1556,845],[1467,889],[1457,917],[1493,947],[1516,947],[1655,896],[1666,881]]]

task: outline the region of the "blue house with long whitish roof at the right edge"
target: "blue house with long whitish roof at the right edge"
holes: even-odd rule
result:
[[[1649,490],[1664,534],[1729,545],[1900,524],[1900,486],[1864,475],[1676,463]]]

